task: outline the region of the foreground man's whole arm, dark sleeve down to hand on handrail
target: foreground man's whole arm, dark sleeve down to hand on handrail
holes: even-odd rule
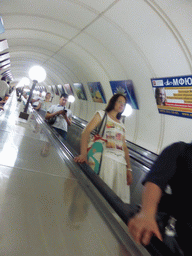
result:
[[[138,243],[148,244],[153,234],[162,240],[156,222],[158,204],[162,191],[175,175],[177,159],[186,146],[184,142],[176,142],[166,147],[144,180],[141,212],[128,223],[129,230]]]

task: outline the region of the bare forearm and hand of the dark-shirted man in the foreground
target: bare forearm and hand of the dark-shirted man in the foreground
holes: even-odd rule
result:
[[[142,208],[129,222],[128,228],[137,243],[149,244],[155,235],[162,241],[162,236],[156,222],[158,204],[162,190],[154,183],[147,182],[142,194]]]

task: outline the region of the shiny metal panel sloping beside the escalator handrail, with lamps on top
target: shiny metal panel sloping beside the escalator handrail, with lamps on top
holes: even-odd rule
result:
[[[13,94],[0,116],[0,255],[149,255],[49,129],[19,119]]]

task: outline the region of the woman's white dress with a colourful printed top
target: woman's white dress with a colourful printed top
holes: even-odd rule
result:
[[[101,118],[104,111],[97,111]],[[124,203],[130,203],[130,186],[127,185],[127,170],[123,141],[125,126],[115,122],[107,115],[104,136],[107,139],[102,157],[99,176],[121,198]]]

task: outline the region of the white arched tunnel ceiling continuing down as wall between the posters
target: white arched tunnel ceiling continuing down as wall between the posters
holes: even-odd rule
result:
[[[130,79],[139,111],[125,121],[126,139],[152,152],[191,140],[188,120],[159,115],[150,78],[192,73],[192,0],[1,0],[0,10],[16,82],[38,64],[42,85],[83,83],[88,100],[75,95],[73,110],[90,120],[103,105],[87,82],[101,82],[108,101],[109,81]]]

